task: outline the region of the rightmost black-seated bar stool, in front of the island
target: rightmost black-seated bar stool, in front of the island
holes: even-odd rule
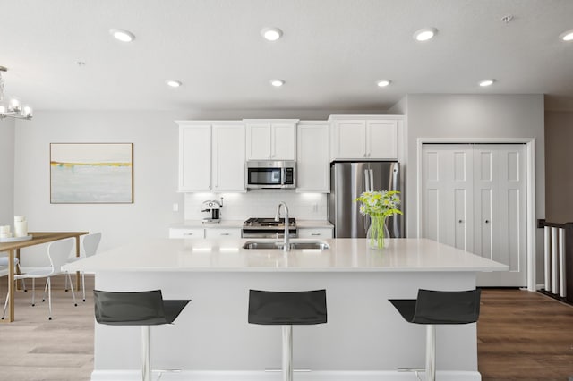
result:
[[[408,323],[426,326],[426,380],[436,379],[436,325],[475,323],[482,290],[418,290],[417,299],[390,299]]]

